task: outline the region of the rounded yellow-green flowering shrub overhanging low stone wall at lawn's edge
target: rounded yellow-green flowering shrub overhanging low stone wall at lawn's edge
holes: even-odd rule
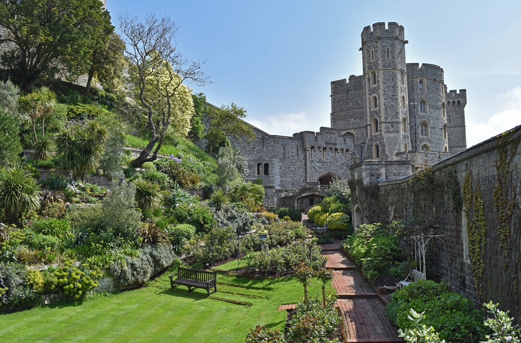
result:
[[[102,273],[97,268],[89,268],[88,264],[75,266],[65,261],[63,266],[49,267],[44,273],[45,291],[49,293],[63,292],[67,297],[79,299],[86,292],[99,286],[97,280]]]

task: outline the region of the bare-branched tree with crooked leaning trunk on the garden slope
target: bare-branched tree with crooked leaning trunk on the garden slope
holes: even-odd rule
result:
[[[145,108],[151,140],[131,166],[155,161],[176,109],[176,95],[185,80],[196,85],[209,83],[201,71],[204,62],[189,63],[177,51],[179,27],[170,17],[146,15],[144,21],[129,14],[118,16],[125,55],[130,62],[129,80],[135,96]],[[160,72],[158,72],[160,71]],[[156,145],[157,143],[157,145]],[[154,147],[155,146],[155,147]]]

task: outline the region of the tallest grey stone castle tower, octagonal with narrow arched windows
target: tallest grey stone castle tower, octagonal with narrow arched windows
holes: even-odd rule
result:
[[[395,22],[362,31],[366,142],[364,160],[394,160],[410,150],[404,28]]]

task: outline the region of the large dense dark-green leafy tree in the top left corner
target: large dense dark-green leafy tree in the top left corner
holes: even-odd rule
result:
[[[27,90],[59,69],[69,75],[88,70],[93,51],[113,32],[99,0],[5,0],[0,2],[0,43],[14,48],[2,62]]]

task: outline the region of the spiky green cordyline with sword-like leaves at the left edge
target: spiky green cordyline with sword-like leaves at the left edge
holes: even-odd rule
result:
[[[0,171],[0,205],[9,223],[16,223],[23,213],[40,208],[42,189],[26,168],[15,164]]]

